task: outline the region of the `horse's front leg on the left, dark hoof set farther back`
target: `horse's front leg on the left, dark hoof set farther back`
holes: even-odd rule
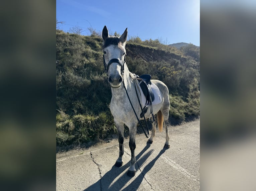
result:
[[[116,121],[116,128],[118,133],[118,142],[119,142],[119,157],[116,160],[115,166],[120,167],[123,165],[123,155],[124,155],[124,123]]]

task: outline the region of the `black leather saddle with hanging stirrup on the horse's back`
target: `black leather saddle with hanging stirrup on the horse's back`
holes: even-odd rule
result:
[[[143,115],[147,112],[148,106],[150,105],[150,107],[151,107],[150,114],[152,114],[153,121],[151,121],[151,120],[149,120],[149,121],[155,122],[154,115],[152,113],[152,102],[154,101],[155,96],[150,87],[150,85],[152,84],[150,79],[151,79],[151,75],[149,75],[149,74],[143,74],[141,76],[137,76],[137,80],[139,81],[140,88],[146,97],[146,104],[145,104],[144,108],[142,109],[140,117],[141,118],[143,117]]]

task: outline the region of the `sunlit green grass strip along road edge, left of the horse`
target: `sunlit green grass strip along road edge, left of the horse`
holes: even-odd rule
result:
[[[113,117],[107,112],[101,112],[99,115],[77,114],[71,117],[59,111],[56,115],[57,145],[86,143],[107,138],[114,133],[117,133],[117,130]]]

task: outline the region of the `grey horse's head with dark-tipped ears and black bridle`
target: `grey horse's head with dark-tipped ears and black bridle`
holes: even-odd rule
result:
[[[112,88],[119,88],[123,81],[124,56],[127,28],[121,37],[109,36],[105,26],[102,30],[104,65],[108,75],[108,82]]]

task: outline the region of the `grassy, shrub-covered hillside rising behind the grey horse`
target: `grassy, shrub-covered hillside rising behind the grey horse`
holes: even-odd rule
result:
[[[56,30],[56,144],[81,144],[117,133],[110,113],[111,88],[102,58],[102,39]],[[199,59],[158,40],[131,38],[131,72],[163,81],[170,93],[172,125],[200,114]],[[198,52],[199,55],[199,52]],[[127,131],[127,128],[125,129]]]

